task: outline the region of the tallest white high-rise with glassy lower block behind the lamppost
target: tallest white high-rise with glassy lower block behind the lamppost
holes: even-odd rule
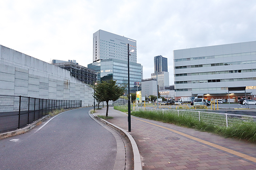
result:
[[[128,84],[128,44],[130,65],[130,91],[137,91],[143,67],[137,63],[137,42],[131,38],[99,30],[93,34],[93,63],[87,67],[98,72],[98,80],[116,80]],[[128,90],[128,88],[127,88]],[[138,89],[141,90],[141,87]]]

